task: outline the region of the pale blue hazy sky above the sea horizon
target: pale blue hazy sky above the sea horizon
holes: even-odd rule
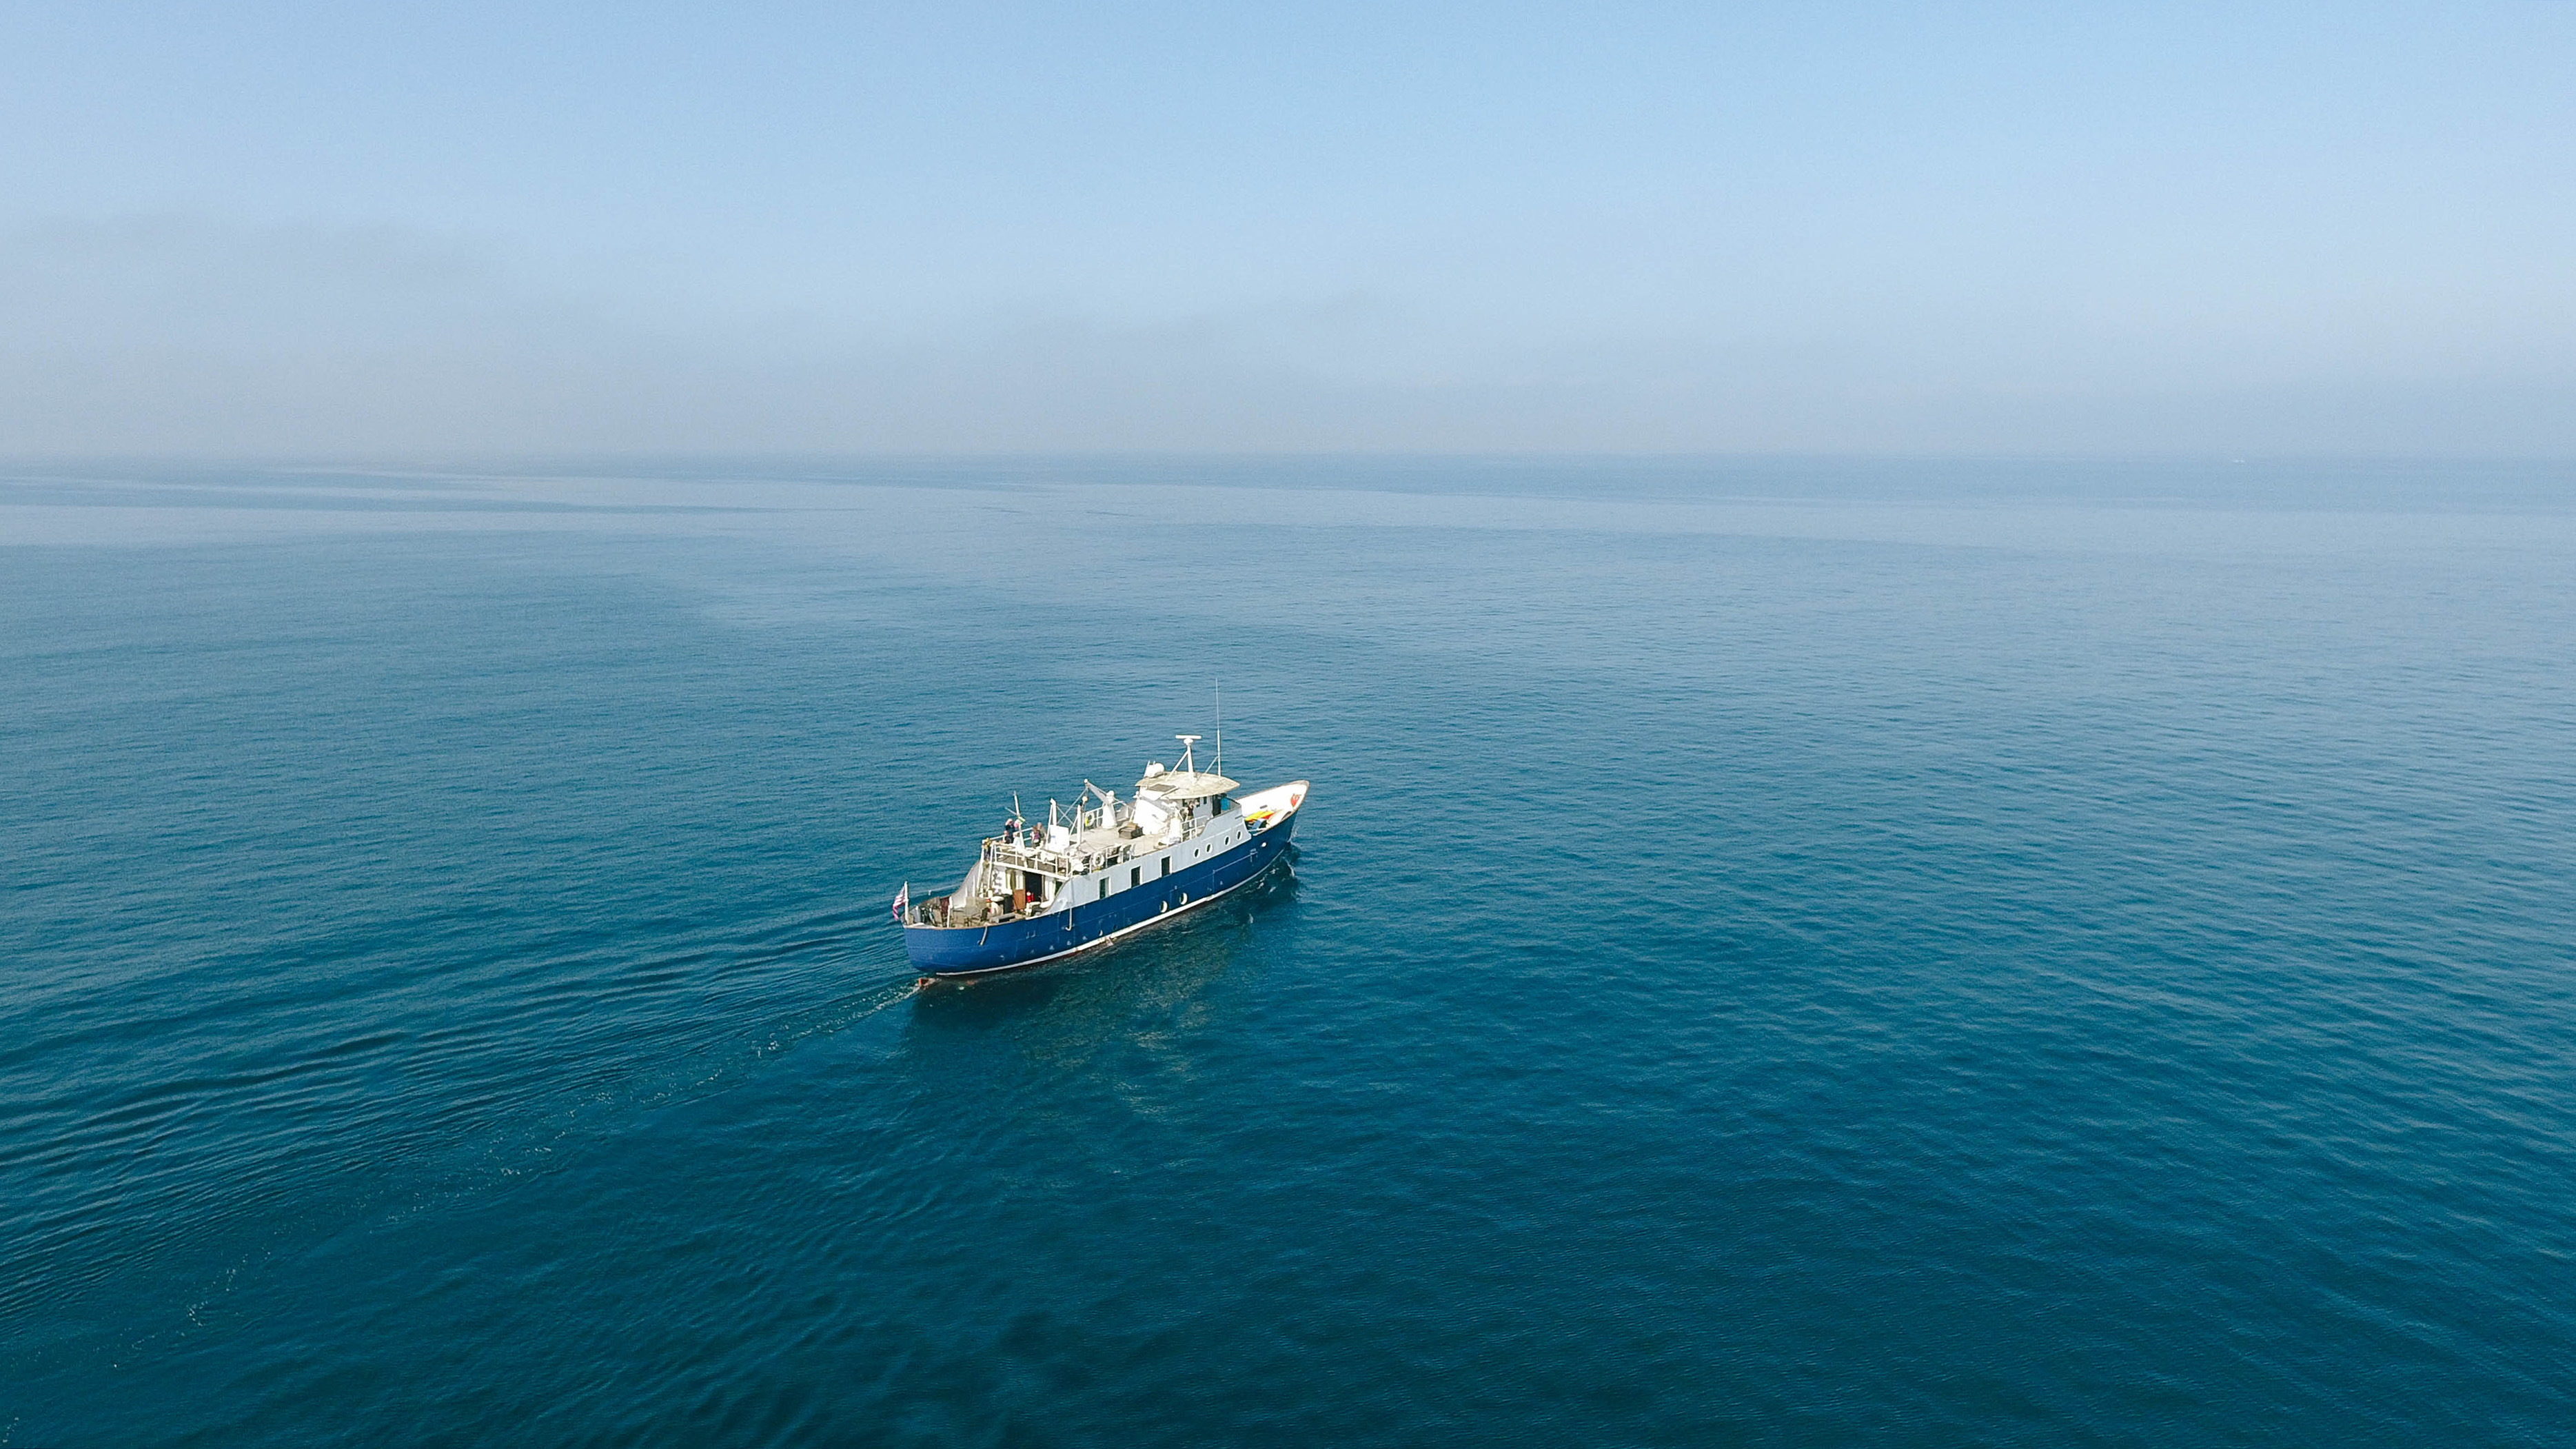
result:
[[[2576,456],[2576,3],[8,5],[0,454]]]

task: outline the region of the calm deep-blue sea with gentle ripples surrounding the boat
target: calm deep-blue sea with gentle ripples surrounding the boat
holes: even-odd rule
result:
[[[0,1444],[2571,1444],[2576,472],[0,477]],[[1293,871],[907,995],[1172,732]]]

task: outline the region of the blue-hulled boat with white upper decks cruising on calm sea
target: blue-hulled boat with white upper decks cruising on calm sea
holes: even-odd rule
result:
[[[904,951],[925,982],[1043,967],[1167,926],[1224,900],[1288,853],[1306,781],[1236,794],[1236,781],[1195,763],[1151,761],[1128,799],[1082,781],[1072,807],[1046,802],[1046,825],[1018,802],[948,895],[894,895]]]

